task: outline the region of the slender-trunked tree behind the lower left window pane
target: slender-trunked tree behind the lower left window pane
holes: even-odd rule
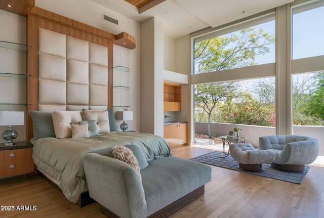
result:
[[[208,114],[208,135],[211,137],[211,114],[219,101],[237,97],[235,82],[208,83],[196,85],[194,90],[195,104],[203,105],[203,110]]]

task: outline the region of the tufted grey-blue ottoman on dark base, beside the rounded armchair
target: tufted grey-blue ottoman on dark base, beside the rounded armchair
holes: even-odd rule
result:
[[[248,143],[229,145],[229,153],[240,169],[253,172],[262,171],[262,163],[272,163],[275,158],[274,151],[256,150]]]

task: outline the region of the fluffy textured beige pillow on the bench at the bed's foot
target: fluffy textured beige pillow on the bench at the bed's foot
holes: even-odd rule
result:
[[[142,180],[141,169],[131,149],[126,148],[125,146],[115,146],[112,148],[112,156],[134,167],[140,180]]]

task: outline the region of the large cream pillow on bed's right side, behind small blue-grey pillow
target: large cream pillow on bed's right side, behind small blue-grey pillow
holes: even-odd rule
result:
[[[83,120],[96,120],[98,133],[110,133],[109,118],[106,110],[85,110]],[[55,127],[55,126],[54,126]]]

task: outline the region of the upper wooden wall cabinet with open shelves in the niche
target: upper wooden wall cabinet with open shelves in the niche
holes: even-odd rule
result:
[[[164,111],[181,111],[181,85],[164,83]]]

